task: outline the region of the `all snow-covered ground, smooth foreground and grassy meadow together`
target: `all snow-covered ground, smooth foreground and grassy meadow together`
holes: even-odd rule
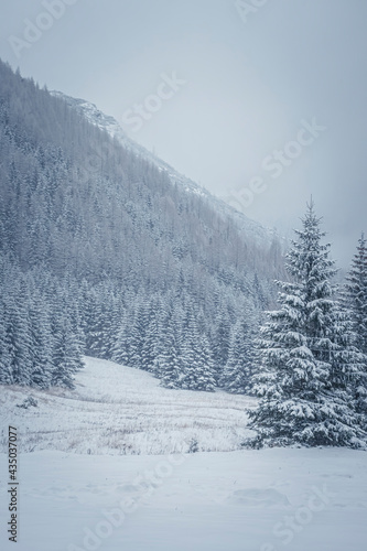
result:
[[[366,549],[365,452],[186,453],[193,439],[199,449],[236,447],[241,408],[253,400],[169,391],[148,374],[95,359],[77,381],[75,392],[32,391],[39,407],[26,410],[15,404],[29,391],[1,387],[3,432],[8,423],[20,432],[17,544],[8,541],[0,454],[1,550]],[[159,447],[163,455],[149,454]]]

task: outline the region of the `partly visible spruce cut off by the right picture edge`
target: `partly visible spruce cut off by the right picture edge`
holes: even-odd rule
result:
[[[357,411],[367,424],[367,247],[364,234],[352,261],[343,302],[355,335],[356,347],[365,355],[364,369],[355,385]]]

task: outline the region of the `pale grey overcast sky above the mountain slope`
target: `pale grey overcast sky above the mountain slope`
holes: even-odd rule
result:
[[[366,0],[0,2],[23,76],[281,233],[312,194],[348,266],[367,233]]]

